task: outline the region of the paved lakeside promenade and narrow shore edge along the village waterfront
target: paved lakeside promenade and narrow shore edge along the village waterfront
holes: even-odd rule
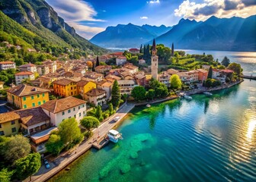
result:
[[[211,89],[197,89],[197,90],[192,90],[192,91],[190,90],[190,91],[187,91],[186,94],[189,96],[189,95],[199,94],[199,93],[203,93],[203,92],[211,92],[211,91],[216,91],[216,90],[220,90],[220,89],[227,89],[229,87],[238,85],[239,83],[242,83],[243,81],[244,80],[240,80],[238,82],[229,84],[227,86],[219,86],[219,87],[211,88]],[[79,144],[79,146],[76,149],[73,149],[72,151],[63,152],[61,155],[56,157],[53,160],[53,162],[50,162],[50,165],[54,166],[53,168],[51,168],[50,171],[46,170],[44,168],[44,166],[42,165],[40,168],[40,171],[38,171],[37,174],[34,174],[34,176],[32,176],[31,181],[40,182],[40,181],[49,180],[50,178],[52,178],[53,176],[58,174],[59,171],[62,171],[63,169],[65,169],[72,162],[75,162],[75,160],[77,158],[79,158],[81,155],[83,155],[85,152],[87,152],[89,149],[91,149],[92,144],[95,142],[95,139],[96,139],[96,141],[102,140],[105,137],[105,135],[107,134],[108,130],[120,126],[120,124],[122,124],[124,118],[126,118],[126,116],[130,113],[130,111],[133,110],[133,108],[135,108],[136,106],[143,106],[143,105],[147,105],[147,104],[166,102],[168,100],[178,99],[178,98],[179,98],[179,96],[170,96],[165,99],[158,99],[158,100],[153,100],[150,102],[124,103],[117,110],[116,114],[110,116],[110,118],[107,118],[106,121],[103,121],[102,124],[98,128],[94,128],[94,130],[92,130],[94,135],[90,139],[84,140],[82,143]],[[117,116],[120,117],[120,120],[117,122],[111,123],[111,121],[113,121],[113,119],[116,118]],[[96,137],[96,136],[98,136],[98,137]],[[43,171],[46,171],[46,172],[43,172]],[[24,181],[28,181],[28,179],[24,180]]]

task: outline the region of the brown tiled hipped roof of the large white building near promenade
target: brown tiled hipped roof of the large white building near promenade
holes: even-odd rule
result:
[[[69,108],[73,108],[78,105],[85,104],[86,102],[82,99],[76,99],[75,97],[69,96],[64,99],[51,100],[49,102],[41,105],[41,108],[46,109],[52,113],[58,113],[60,111],[65,111]]]

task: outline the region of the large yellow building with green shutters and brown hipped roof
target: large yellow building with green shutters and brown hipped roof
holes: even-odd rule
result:
[[[7,91],[7,102],[17,108],[34,108],[49,101],[48,89],[21,84]]]

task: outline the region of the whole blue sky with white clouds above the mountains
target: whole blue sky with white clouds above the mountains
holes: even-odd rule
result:
[[[60,17],[90,39],[108,26],[150,24],[172,26],[184,17],[248,17],[256,0],[46,0]]]

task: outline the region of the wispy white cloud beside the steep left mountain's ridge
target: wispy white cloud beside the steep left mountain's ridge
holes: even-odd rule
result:
[[[54,10],[69,21],[104,21],[95,18],[97,12],[94,8],[84,1],[78,0],[46,0],[49,5],[53,6]]]

